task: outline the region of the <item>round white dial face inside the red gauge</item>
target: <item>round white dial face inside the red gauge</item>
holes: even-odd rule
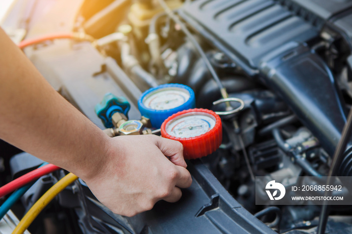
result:
[[[172,137],[190,138],[201,136],[214,128],[214,116],[202,112],[189,112],[178,116],[166,125],[166,133]]]

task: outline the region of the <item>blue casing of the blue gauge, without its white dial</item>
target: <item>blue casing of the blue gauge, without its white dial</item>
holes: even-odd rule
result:
[[[155,90],[158,89],[163,89],[163,88],[181,88],[185,89],[190,93],[190,98],[182,105],[172,108],[172,109],[165,109],[165,110],[156,110],[156,109],[151,109],[143,104],[143,99],[150,93],[154,92]],[[185,110],[185,109],[191,109],[196,107],[196,98],[194,91],[192,88],[188,87],[187,85],[184,84],[162,84],[154,88],[150,88],[147,91],[145,91],[139,98],[138,100],[138,109],[141,112],[143,116],[146,118],[150,119],[151,125],[159,129],[161,127],[161,124],[172,114],[177,113],[179,111]]]

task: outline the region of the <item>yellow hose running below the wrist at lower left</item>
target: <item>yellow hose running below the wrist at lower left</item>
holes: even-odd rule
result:
[[[21,219],[12,234],[22,234],[31,225],[33,220],[44,209],[54,197],[59,194],[64,188],[73,183],[78,177],[72,173],[67,174],[56,184],[54,184],[39,200],[31,207],[26,215]]]

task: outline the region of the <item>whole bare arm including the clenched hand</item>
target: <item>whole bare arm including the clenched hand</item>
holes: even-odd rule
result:
[[[0,138],[76,174],[123,215],[151,209],[160,199],[177,201],[180,187],[192,183],[181,143],[107,137],[50,86],[2,29]]]

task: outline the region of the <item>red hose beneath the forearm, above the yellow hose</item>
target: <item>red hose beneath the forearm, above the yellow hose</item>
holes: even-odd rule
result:
[[[3,187],[0,188],[0,198],[3,196],[11,193],[12,191],[32,182],[33,180],[36,180],[43,175],[49,174],[50,172],[56,171],[60,169],[59,167],[53,165],[53,164],[48,164],[44,167],[37,168],[13,181],[10,183],[4,185]]]

